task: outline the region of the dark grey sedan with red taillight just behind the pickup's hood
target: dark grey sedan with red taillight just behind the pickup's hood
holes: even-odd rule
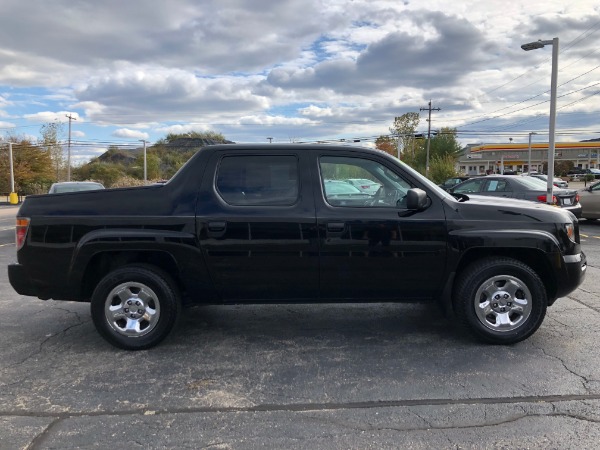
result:
[[[546,203],[546,182],[534,177],[511,175],[488,175],[463,181],[449,189],[451,194],[507,197]],[[554,204],[581,217],[579,193],[575,189],[555,188],[552,191]]]

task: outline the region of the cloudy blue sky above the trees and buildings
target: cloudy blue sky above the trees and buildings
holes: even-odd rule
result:
[[[0,137],[71,125],[72,160],[216,131],[236,142],[389,133],[432,106],[461,144],[600,138],[600,5],[588,0],[3,0]],[[421,114],[418,131],[427,129]]]

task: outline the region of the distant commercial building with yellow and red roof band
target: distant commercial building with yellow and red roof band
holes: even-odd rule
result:
[[[574,167],[600,167],[600,142],[562,142],[554,145],[554,161],[571,161]],[[548,161],[548,143],[531,144],[531,168],[528,167],[529,144],[481,144],[467,146],[458,161],[458,171],[467,175],[505,172],[542,172]]]

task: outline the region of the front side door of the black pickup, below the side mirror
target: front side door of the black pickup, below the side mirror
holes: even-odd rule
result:
[[[389,161],[322,154],[321,192],[315,192],[321,301],[396,301],[434,297],[446,264],[441,202],[407,213],[404,196],[415,186]],[[347,178],[381,184],[370,198],[338,202],[327,185]]]

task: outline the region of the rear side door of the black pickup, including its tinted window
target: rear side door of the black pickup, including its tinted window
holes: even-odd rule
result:
[[[309,168],[298,151],[213,155],[197,233],[225,302],[318,298],[318,242]],[[211,172],[212,171],[212,172]]]

